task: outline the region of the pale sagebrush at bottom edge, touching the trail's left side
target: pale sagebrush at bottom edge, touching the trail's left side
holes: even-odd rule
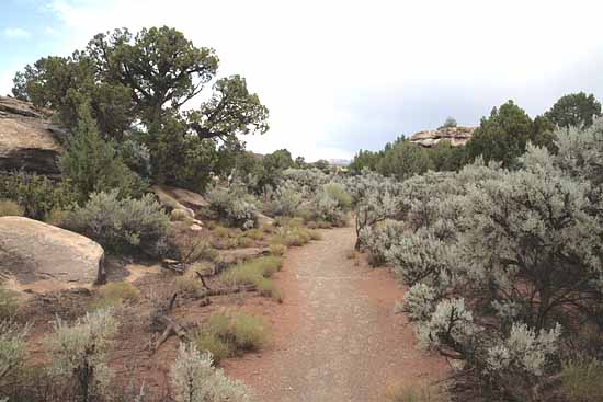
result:
[[[213,367],[208,353],[181,344],[170,377],[177,402],[248,402],[247,389]]]

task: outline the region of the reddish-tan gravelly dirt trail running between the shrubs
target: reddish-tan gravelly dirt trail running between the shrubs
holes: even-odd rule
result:
[[[386,269],[355,263],[351,228],[287,253],[285,302],[261,355],[226,364],[264,402],[382,402],[387,387],[441,378],[446,364],[414,348],[394,305],[403,295]]]

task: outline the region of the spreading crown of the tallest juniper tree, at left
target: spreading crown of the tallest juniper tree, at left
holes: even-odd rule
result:
[[[201,191],[212,171],[230,168],[226,162],[243,148],[238,135],[268,130],[268,110],[244,78],[217,79],[217,68],[213,49],[194,46],[174,28],[115,30],[70,57],[26,66],[13,93],[57,111],[73,130],[79,106],[88,103],[103,139],[148,150],[153,181]],[[212,82],[206,101],[183,112]]]

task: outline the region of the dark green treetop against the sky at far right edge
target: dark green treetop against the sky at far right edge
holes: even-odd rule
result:
[[[560,128],[588,128],[601,116],[601,103],[592,93],[571,93],[561,96],[545,115]]]

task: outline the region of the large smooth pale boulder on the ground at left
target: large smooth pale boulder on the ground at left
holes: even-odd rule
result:
[[[0,273],[25,289],[60,290],[105,282],[94,241],[37,220],[0,217]]]

